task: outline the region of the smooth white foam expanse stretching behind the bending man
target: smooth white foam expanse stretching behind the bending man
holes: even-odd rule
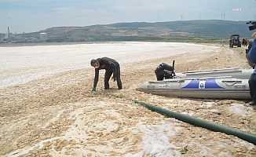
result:
[[[183,53],[209,52],[217,48],[174,42],[107,42],[2,47],[0,88],[41,79],[62,71],[90,68],[90,60],[99,57],[115,58],[122,64]]]

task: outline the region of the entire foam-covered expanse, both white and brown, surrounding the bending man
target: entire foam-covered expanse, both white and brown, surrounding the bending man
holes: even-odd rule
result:
[[[1,156],[255,156],[238,137],[166,118],[123,97],[256,134],[250,100],[163,97],[136,88],[155,68],[175,60],[175,72],[250,68],[247,47],[167,42],[109,42],[0,47]],[[123,89],[104,70],[97,91],[90,60],[121,65]],[[115,96],[115,97],[113,97]]]

